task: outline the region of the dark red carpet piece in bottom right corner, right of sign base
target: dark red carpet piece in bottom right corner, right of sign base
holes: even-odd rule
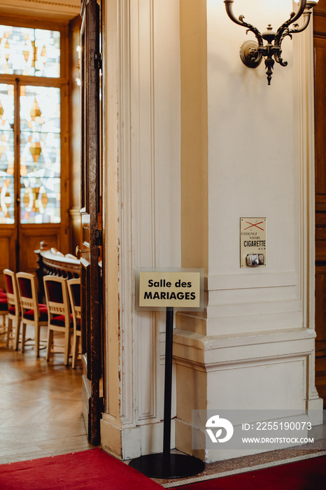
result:
[[[176,490],[325,490],[326,456],[216,478]]]

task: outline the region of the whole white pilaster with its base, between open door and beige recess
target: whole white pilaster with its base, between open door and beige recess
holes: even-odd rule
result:
[[[127,457],[128,433],[134,456],[152,450],[163,412],[164,316],[136,311],[135,269],[180,262],[178,6],[174,0],[109,0],[104,15],[108,200],[116,194],[107,216],[117,227],[116,243],[108,245],[107,295],[113,283],[118,293],[107,307],[101,437],[104,447]],[[115,247],[117,278],[110,272]],[[110,308],[118,312],[115,322]]]

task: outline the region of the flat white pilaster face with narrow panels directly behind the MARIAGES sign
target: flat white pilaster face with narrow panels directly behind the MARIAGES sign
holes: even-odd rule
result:
[[[132,195],[132,212],[128,218],[132,220],[129,243],[133,251],[130,264],[133,273],[136,267],[180,265],[180,61],[176,49],[179,28],[177,7],[171,0],[164,5],[157,0],[130,3],[132,165],[131,187],[128,191]],[[166,32],[169,32],[169,39],[166,38]],[[122,246],[124,243],[126,241],[122,241]],[[131,277],[130,269],[128,276],[125,281]],[[130,291],[125,293],[126,302],[129,297]],[[155,312],[135,311],[134,302],[132,316],[136,423],[146,425],[162,420],[163,416],[162,332],[165,330],[165,318]]]

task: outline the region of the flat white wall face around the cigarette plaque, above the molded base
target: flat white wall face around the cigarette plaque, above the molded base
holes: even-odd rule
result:
[[[251,23],[250,7],[257,1],[245,3],[244,12],[235,1],[234,12],[239,10]],[[264,62],[248,69],[239,58],[239,46],[253,34],[246,36],[246,29],[227,18],[223,2],[208,2],[208,8],[209,281],[222,284],[225,276],[234,288],[213,293],[211,305],[217,317],[250,316],[245,323],[234,318],[228,332],[284,328],[278,312],[290,311],[297,323],[301,309],[296,287],[299,165],[293,159],[292,45],[285,38],[283,55],[289,65],[276,64],[267,86]],[[264,8],[253,17],[261,29],[269,22]],[[267,267],[240,269],[239,220],[256,216],[267,218]],[[268,321],[262,321],[264,308]],[[221,329],[215,325],[210,332],[223,333]]]

